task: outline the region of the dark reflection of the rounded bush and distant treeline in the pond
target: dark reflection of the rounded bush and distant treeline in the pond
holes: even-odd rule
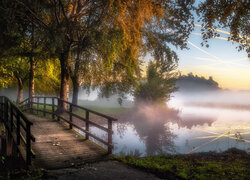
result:
[[[198,116],[180,117],[179,113],[178,110],[163,106],[141,105],[119,117],[117,133],[120,138],[123,138],[129,124],[132,124],[140,140],[145,144],[146,155],[150,156],[176,152],[174,140],[178,134],[171,130],[170,123],[191,129],[193,126],[203,124],[211,126],[215,121],[214,118],[199,118]]]

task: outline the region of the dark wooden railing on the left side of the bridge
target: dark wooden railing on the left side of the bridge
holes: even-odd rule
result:
[[[21,154],[25,153],[22,154],[25,156],[23,158],[25,158],[27,165],[30,165],[31,158],[35,157],[35,153],[31,149],[31,141],[35,142],[35,138],[31,134],[32,122],[5,96],[0,96],[0,121],[4,123]]]

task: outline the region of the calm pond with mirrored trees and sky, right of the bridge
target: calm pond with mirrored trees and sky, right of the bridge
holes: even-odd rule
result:
[[[149,156],[222,152],[236,147],[250,152],[250,110],[189,104],[164,109],[142,106],[118,116],[113,126],[114,154]],[[92,127],[99,136],[105,135]]]

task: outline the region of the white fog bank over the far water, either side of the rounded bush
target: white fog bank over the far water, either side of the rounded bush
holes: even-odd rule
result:
[[[79,95],[79,104],[85,106],[105,106],[105,107],[132,107],[134,105],[133,97],[128,95],[123,99],[122,104],[118,103],[118,96],[113,95],[109,98],[98,96],[98,90],[89,94],[81,91]],[[210,107],[250,110],[250,91],[236,90],[211,90],[205,91],[197,89],[194,92],[179,90],[171,95],[171,99],[166,103],[169,107],[181,109],[184,106]]]

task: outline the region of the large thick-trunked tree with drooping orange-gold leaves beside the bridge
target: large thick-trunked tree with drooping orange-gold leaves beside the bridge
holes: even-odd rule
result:
[[[109,37],[115,31],[122,44],[112,49],[112,43],[95,39],[101,57],[102,78],[98,82],[105,87],[127,89],[124,85],[135,83],[139,72],[139,58],[145,50],[153,51],[154,41],[171,42],[185,46],[185,39],[192,30],[193,1],[165,0],[14,0],[10,2],[13,14],[32,23],[45,40],[51,54],[58,57],[61,66],[60,97],[68,100],[70,77],[70,53],[75,44],[85,43],[90,32]],[[178,21],[175,21],[178,19]],[[170,29],[170,32],[169,32]],[[158,37],[157,37],[158,36]],[[160,40],[160,36],[163,40]],[[90,36],[93,38],[95,36]],[[97,36],[98,37],[98,36]],[[145,38],[151,39],[151,45]],[[108,45],[107,45],[108,44]],[[88,44],[87,44],[88,46]],[[146,47],[147,46],[147,47]],[[66,108],[63,105],[63,108]]]

